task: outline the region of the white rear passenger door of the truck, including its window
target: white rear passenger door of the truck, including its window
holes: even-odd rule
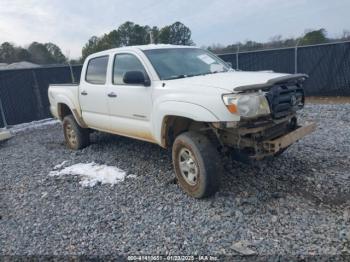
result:
[[[107,70],[109,56],[91,58],[85,68],[85,78],[79,86],[79,101],[85,123],[92,128],[107,131],[109,109],[107,103]]]

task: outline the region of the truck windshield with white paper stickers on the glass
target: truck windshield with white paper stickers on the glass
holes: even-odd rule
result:
[[[217,56],[198,48],[162,48],[143,51],[161,80],[227,72]]]

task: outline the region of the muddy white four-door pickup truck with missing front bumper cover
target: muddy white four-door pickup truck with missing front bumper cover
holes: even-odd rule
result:
[[[91,130],[172,148],[178,183],[189,195],[219,188],[222,154],[262,159],[315,129],[299,126],[303,74],[235,71],[196,47],[145,45],[90,55],[79,85],[50,85],[52,114],[71,149]]]

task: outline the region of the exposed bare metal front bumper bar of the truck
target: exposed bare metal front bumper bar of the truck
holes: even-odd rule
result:
[[[309,123],[305,126],[300,126],[297,129],[293,130],[292,132],[287,133],[276,139],[263,141],[263,147],[266,152],[270,154],[275,154],[287,148],[294,142],[298,141],[299,139],[312,133],[315,130],[316,130],[316,124]]]

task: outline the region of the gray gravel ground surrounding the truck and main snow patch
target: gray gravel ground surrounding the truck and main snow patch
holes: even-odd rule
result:
[[[234,163],[205,200],[171,182],[171,155],[157,145],[96,133],[74,152],[59,124],[20,132],[0,145],[0,255],[237,255],[237,242],[259,255],[346,254],[350,104],[308,105],[301,115],[318,123],[315,133],[278,158]],[[83,188],[48,176],[64,160],[137,178]]]

